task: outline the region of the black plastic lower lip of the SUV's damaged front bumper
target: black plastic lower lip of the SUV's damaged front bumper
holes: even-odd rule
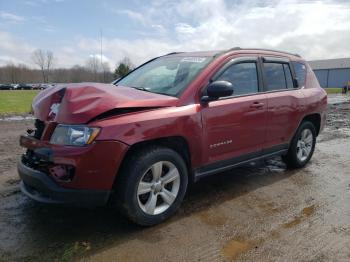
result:
[[[104,190],[63,188],[48,175],[27,167],[22,162],[18,163],[17,168],[22,179],[22,192],[38,202],[103,206],[108,202],[111,193]]]

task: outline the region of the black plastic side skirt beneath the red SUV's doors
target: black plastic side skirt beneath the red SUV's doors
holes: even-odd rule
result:
[[[238,156],[199,167],[194,170],[194,182],[197,182],[203,177],[224,172],[249,162],[267,159],[278,155],[285,155],[288,152],[288,148],[288,144],[278,145],[270,149],[263,149],[258,152],[249,153],[243,156]]]

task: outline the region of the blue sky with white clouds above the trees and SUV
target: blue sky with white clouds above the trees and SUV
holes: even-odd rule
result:
[[[32,65],[38,48],[56,67],[100,53],[112,67],[172,51],[274,48],[304,58],[350,57],[350,1],[0,0],[0,65]]]

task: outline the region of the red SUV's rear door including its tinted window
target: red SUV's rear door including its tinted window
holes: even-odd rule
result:
[[[267,94],[264,153],[269,153],[288,148],[302,114],[303,94],[288,59],[264,57],[261,62]]]

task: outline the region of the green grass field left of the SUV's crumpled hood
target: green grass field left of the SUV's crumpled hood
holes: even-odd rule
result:
[[[0,115],[26,114],[39,90],[0,90]]]

